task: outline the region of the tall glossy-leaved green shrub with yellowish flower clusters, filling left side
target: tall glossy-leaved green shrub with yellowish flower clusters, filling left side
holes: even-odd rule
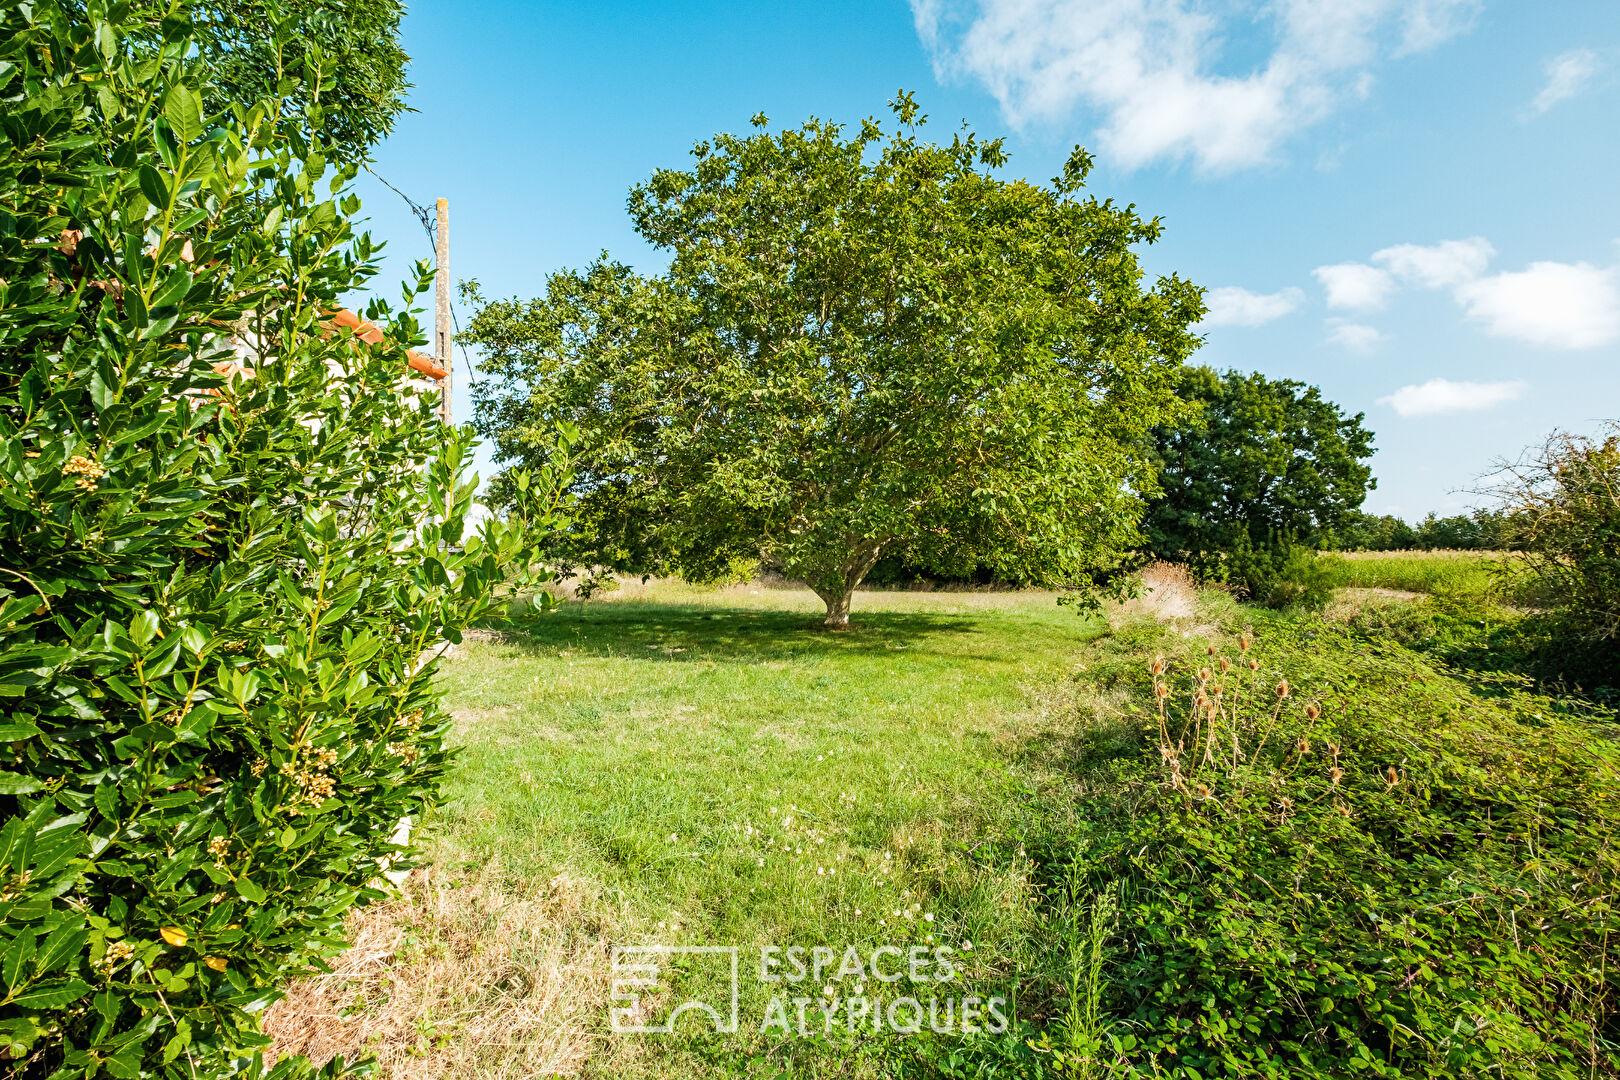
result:
[[[258,1075],[256,1012],[434,798],[418,654],[526,531],[468,533],[415,319],[322,324],[374,272],[353,168],[275,102],[204,115],[180,5],[0,16],[0,1057]]]

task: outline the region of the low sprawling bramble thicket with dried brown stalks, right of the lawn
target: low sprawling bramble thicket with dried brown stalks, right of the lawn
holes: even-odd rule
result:
[[[1173,657],[1160,714],[1150,643],[1115,644],[1089,677],[1134,737],[1079,763],[1076,873],[1119,897],[1089,1075],[1617,1075],[1612,716],[1283,622]]]

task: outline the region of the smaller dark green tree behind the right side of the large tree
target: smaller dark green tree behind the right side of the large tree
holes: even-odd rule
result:
[[[1215,568],[1233,549],[1325,542],[1374,487],[1372,432],[1317,387],[1209,368],[1181,374],[1183,419],[1153,431],[1162,494],[1144,529],[1162,559]]]

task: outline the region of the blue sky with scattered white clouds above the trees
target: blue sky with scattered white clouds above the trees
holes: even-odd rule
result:
[[[1149,270],[1212,290],[1199,363],[1367,415],[1372,512],[1477,505],[1494,460],[1620,413],[1614,0],[421,0],[403,37],[416,112],[376,170],[450,199],[486,295],[601,249],[658,269],[630,185],[755,112],[854,123],[906,87],[938,138],[1006,134],[1008,175],[1090,147],[1092,191],[1165,219]],[[402,279],[421,227],[360,191]]]

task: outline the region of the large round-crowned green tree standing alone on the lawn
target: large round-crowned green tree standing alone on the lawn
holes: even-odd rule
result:
[[[1145,436],[1176,415],[1196,287],[1144,287],[1157,219],[1003,180],[1001,141],[897,130],[718,134],[630,193],[667,253],[489,303],[478,424],[538,463],[575,444],[582,562],[713,578],[763,559],[849,620],[885,552],[1072,585],[1137,541]]]

